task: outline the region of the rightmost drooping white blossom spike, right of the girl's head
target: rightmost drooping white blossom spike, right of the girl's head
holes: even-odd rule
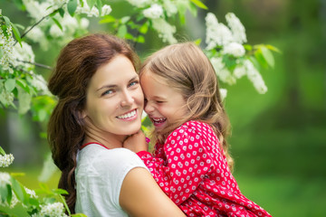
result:
[[[250,81],[253,82],[255,90],[259,93],[263,94],[267,91],[267,87],[264,83],[262,75],[254,68],[254,64],[252,61],[245,60],[244,61],[245,69],[247,77]]]

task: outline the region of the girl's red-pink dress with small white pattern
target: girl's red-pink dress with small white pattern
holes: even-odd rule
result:
[[[248,200],[231,174],[213,128],[190,120],[155,154],[138,153],[160,188],[187,216],[271,216]]]

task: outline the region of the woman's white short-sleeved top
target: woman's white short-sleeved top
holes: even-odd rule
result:
[[[82,148],[75,170],[75,212],[88,217],[128,216],[120,207],[120,189],[125,176],[135,167],[147,169],[129,149],[107,149],[97,144]]]

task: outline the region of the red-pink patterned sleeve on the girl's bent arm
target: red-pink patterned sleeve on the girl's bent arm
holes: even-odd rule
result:
[[[174,203],[183,203],[214,166],[206,150],[206,140],[193,128],[179,127],[162,148],[166,157],[139,152],[160,188]]]

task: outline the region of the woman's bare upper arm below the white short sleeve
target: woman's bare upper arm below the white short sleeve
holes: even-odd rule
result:
[[[162,192],[149,171],[136,167],[129,171],[120,190],[120,206],[130,216],[186,216]]]

